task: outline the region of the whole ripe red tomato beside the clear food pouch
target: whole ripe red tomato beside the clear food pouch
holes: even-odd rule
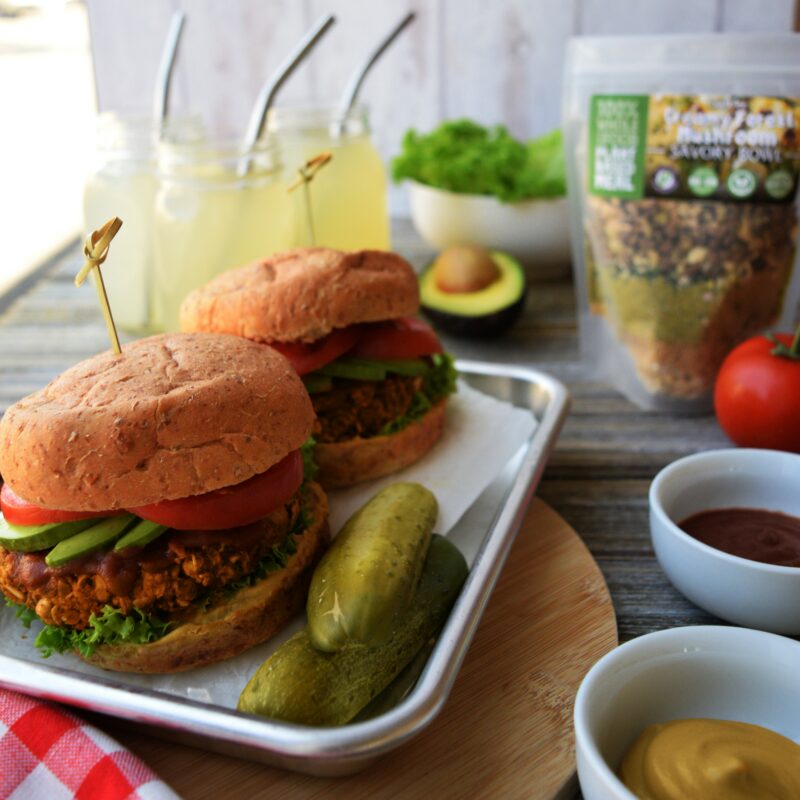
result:
[[[800,453],[800,335],[778,333],[788,355],[766,336],[748,339],[722,363],[714,386],[717,420],[740,447]]]

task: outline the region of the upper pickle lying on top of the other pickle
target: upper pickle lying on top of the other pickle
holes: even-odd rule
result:
[[[306,611],[314,647],[380,644],[414,597],[437,514],[418,483],[395,483],[342,528],[311,579]]]

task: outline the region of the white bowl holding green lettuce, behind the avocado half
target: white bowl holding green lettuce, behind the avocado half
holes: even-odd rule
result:
[[[569,271],[569,210],[557,197],[501,203],[494,197],[456,194],[408,181],[411,219],[419,235],[437,250],[476,244],[510,253],[532,280]]]

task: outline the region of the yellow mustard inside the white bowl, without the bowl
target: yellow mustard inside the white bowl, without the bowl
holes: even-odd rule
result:
[[[746,722],[675,720],[646,728],[619,776],[641,800],[797,800],[800,745]]]

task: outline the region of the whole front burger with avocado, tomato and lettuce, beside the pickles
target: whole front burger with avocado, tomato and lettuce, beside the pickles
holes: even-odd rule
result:
[[[171,334],[64,372],[0,421],[0,590],[45,655],[175,672],[299,612],[328,542],[314,414],[279,353]]]

